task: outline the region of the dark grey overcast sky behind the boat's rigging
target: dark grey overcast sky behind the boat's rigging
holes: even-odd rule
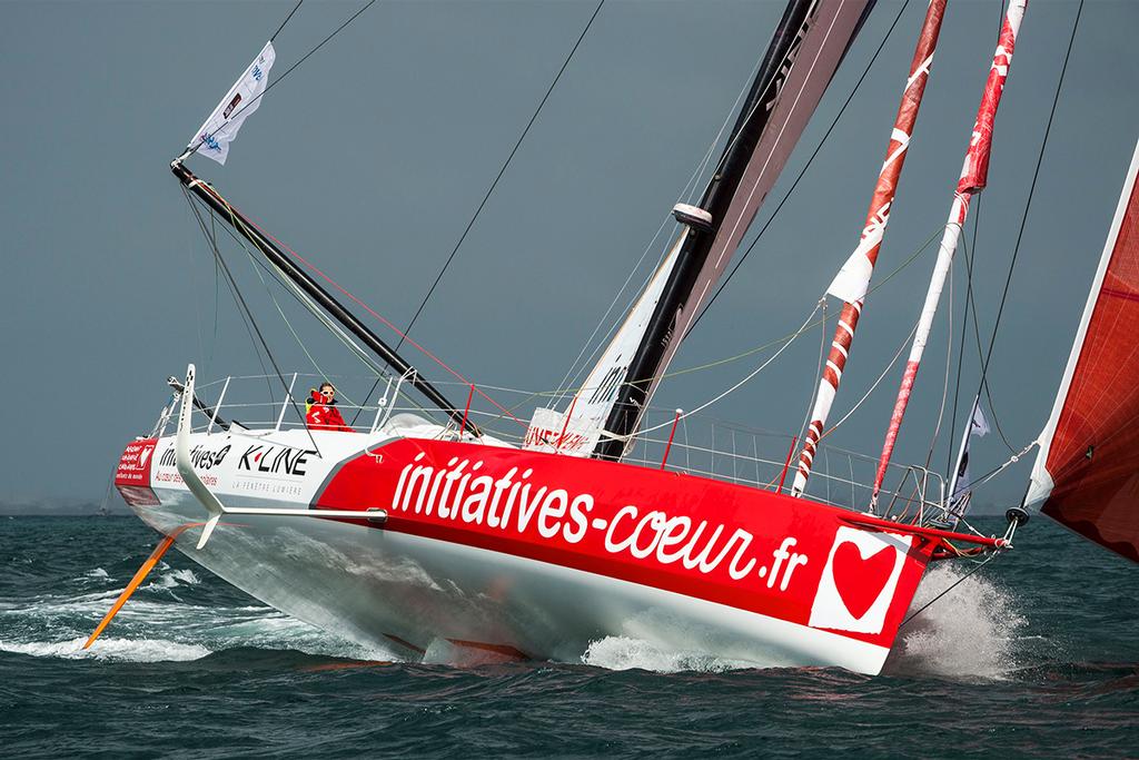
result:
[[[227,166],[195,158],[191,169],[405,324],[593,6],[379,2],[265,97]],[[416,340],[482,383],[556,385],[680,196],[781,6],[608,0]],[[224,291],[213,338],[213,267],[167,164],[290,7],[0,3],[0,501],[97,500],[122,447],[153,424],[166,375],[188,361],[206,379],[261,371]],[[306,2],[276,42],[273,75],[358,7]],[[797,174],[899,7],[879,1],[771,198]],[[980,209],[985,338],[1075,7],[1034,1],[1018,40]],[[857,244],[924,10],[911,0],[860,95],[675,368],[793,329]],[[944,222],[998,10],[993,2],[950,2],[879,275]],[[1139,131],[1137,22],[1134,3],[1084,8],[991,369],[997,416],[1015,446],[1035,436],[1050,408]],[[253,291],[248,265],[232,253],[231,261]],[[909,332],[932,262],[924,256],[871,296],[836,414]],[[281,363],[309,369],[263,293],[251,297]],[[947,317],[943,303],[899,460],[925,459]],[[797,430],[819,337],[816,330],[710,414]],[[329,371],[361,374],[328,345],[319,358]],[[669,381],[655,403],[693,408],[756,363]],[[969,366],[962,385],[972,392]],[[899,376],[900,368],[887,376],[835,443],[877,453]],[[934,461],[943,466],[944,457],[940,448]],[[997,436],[974,452],[980,469],[1006,457]],[[1015,500],[1025,476],[1022,465],[982,499]]]

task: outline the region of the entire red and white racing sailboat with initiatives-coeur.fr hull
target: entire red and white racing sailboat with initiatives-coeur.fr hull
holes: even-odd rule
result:
[[[633,636],[760,667],[877,673],[927,565],[1007,549],[1017,521],[1002,537],[932,526],[945,514],[945,495],[929,487],[925,471],[896,514],[872,502],[810,496],[802,482],[825,410],[814,417],[819,432],[805,442],[788,490],[794,449],[778,485],[670,464],[672,434],[658,465],[633,464],[630,456],[646,440],[646,410],[665,368],[871,5],[788,2],[715,171],[698,203],[673,210],[680,231],[640,299],[565,409],[538,409],[518,442],[474,423],[470,398],[481,389],[470,385],[466,404],[448,399],[337,294],[367,309],[361,302],[186,165],[195,153],[224,161],[240,120],[264,93],[274,55],[267,46],[173,162],[173,173],[353,350],[390,368],[388,393],[371,424],[355,432],[289,430],[281,426],[295,403],[288,383],[276,425],[241,425],[221,415],[228,382],[210,406],[198,397],[192,365],[185,381],[172,378],[171,403],[150,435],[128,444],[115,476],[126,502],[164,537],[148,564],[177,546],[267,604],[408,657],[445,643],[495,656],[574,660],[590,641]],[[944,0],[929,3],[867,229],[836,279],[841,286],[831,288],[854,314],[831,349],[842,357],[867,294],[944,9]],[[1015,0],[1002,21],[931,285],[934,307],[937,277],[943,281],[948,269],[941,259],[956,247],[950,236],[959,234],[969,197],[984,187],[988,136],[1024,10],[1024,0]],[[829,362],[828,371],[820,385],[827,408],[842,365]],[[425,411],[392,414],[401,392],[418,394]],[[167,434],[175,411],[175,432]],[[879,472],[892,466],[884,455]],[[880,488],[879,476],[876,496]]]

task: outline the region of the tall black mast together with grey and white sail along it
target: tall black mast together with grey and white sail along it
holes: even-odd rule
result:
[[[678,206],[675,215],[685,229],[634,307],[641,314],[630,313],[579,391],[571,424],[601,427],[593,456],[623,455],[681,337],[778,179],[872,5],[788,2],[699,206]],[[604,387],[598,382],[603,379]]]

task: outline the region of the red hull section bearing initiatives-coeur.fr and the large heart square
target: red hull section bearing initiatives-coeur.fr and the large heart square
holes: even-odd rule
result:
[[[377,456],[383,452],[383,459]],[[342,463],[316,508],[888,647],[931,545],[845,510],[633,465],[403,439]],[[912,546],[911,546],[912,545]]]

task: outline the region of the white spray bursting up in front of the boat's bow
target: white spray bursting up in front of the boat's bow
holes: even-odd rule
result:
[[[939,565],[927,572],[911,614],[968,570]],[[1025,624],[1011,594],[980,573],[970,575],[902,629],[886,672],[1001,678],[1017,668],[1018,635]]]

